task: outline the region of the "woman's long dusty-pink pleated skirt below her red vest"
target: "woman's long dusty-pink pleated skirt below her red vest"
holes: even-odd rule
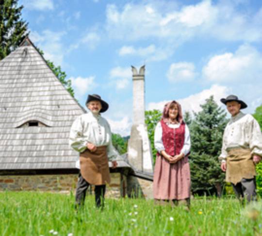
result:
[[[183,200],[190,198],[190,168],[187,156],[175,164],[157,156],[153,181],[154,199]]]

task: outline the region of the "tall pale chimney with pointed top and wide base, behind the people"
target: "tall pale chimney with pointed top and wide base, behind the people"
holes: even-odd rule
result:
[[[137,176],[153,175],[153,158],[145,124],[145,66],[139,73],[132,66],[133,123],[128,141],[128,161]],[[153,198],[152,182],[139,177],[128,176],[128,195]]]

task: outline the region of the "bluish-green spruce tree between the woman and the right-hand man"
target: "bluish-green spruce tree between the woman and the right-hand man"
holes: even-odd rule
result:
[[[218,107],[213,96],[201,108],[190,124],[192,192],[199,195],[217,192],[220,196],[225,173],[220,169],[218,156],[228,120],[225,110]]]

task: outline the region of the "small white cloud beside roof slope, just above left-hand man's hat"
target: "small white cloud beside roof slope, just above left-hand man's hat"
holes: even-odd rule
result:
[[[95,77],[90,76],[87,78],[82,77],[70,77],[69,80],[72,81],[72,86],[75,91],[75,95],[77,98],[81,98],[83,95],[85,95],[88,91],[91,91],[94,89],[97,84],[95,83]]]

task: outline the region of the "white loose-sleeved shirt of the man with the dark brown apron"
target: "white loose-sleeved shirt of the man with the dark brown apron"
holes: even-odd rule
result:
[[[95,146],[107,146],[107,155],[110,161],[119,156],[111,139],[110,125],[105,118],[92,112],[83,114],[73,122],[69,135],[69,145],[77,152],[86,150],[87,142]],[[76,163],[79,168],[79,160]]]

